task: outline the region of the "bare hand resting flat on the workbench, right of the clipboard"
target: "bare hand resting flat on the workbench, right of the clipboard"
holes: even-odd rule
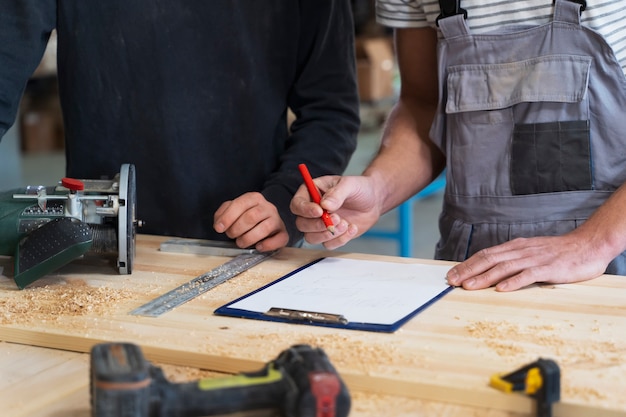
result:
[[[580,233],[518,238],[483,249],[448,272],[448,283],[466,290],[495,285],[514,291],[533,283],[586,281],[604,273],[602,259]]]

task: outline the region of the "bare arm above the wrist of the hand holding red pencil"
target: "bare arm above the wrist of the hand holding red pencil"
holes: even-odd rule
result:
[[[363,172],[380,193],[380,213],[426,187],[445,166],[429,136],[439,97],[437,33],[429,28],[394,33],[400,99],[387,119],[378,155]]]

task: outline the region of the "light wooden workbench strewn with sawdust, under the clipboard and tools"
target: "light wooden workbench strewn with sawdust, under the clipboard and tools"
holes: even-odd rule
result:
[[[434,262],[284,249],[163,316],[128,315],[228,259],[162,253],[164,239],[138,236],[130,276],[87,258],[22,291],[7,278],[11,260],[0,258],[0,408],[7,415],[89,415],[88,355],[76,352],[128,341],[155,363],[222,373],[260,369],[292,344],[320,346],[350,388],[355,417],[531,415],[531,398],[494,390],[489,377],[551,358],[562,373],[556,416],[626,416],[624,277],[513,293],[455,289],[393,334],[212,314],[323,256]]]

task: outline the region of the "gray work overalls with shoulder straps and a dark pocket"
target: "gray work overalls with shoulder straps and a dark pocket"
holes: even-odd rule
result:
[[[462,14],[438,20],[437,259],[565,234],[626,181],[626,77],[580,8],[556,0],[552,22],[489,34],[472,34]],[[626,275],[626,253],[607,273]]]

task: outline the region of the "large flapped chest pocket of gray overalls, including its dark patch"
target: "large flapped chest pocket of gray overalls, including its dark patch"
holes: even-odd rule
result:
[[[592,188],[591,57],[547,55],[448,67],[447,135],[457,192]],[[454,168],[461,167],[455,175]]]

